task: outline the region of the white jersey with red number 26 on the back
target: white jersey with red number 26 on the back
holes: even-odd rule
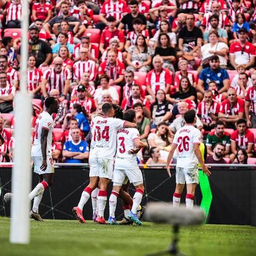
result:
[[[181,127],[175,134],[173,144],[178,145],[177,167],[195,168],[198,159],[195,155],[194,144],[201,143],[201,132],[192,125]]]

